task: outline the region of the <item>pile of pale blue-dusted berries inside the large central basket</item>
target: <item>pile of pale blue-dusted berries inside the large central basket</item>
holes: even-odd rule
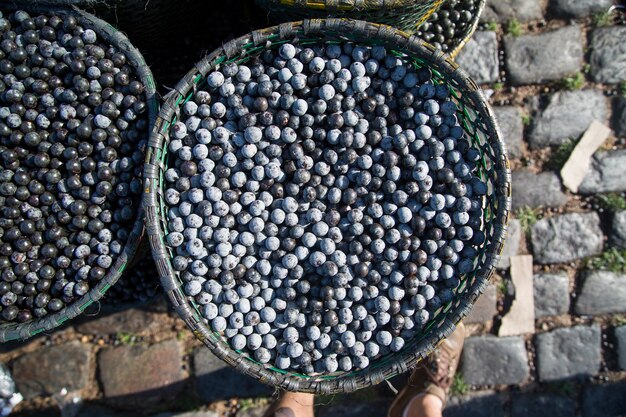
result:
[[[266,50],[170,129],[166,244],[210,327],[306,374],[400,351],[473,269],[487,186],[447,85],[383,47]]]

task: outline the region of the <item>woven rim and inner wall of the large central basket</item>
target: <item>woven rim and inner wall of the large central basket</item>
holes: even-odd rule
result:
[[[168,166],[170,127],[178,119],[182,105],[203,86],[206,75],[216,66],[246,62],[267,48],[275,49],[285,42],[309,45],[337,41],[386,46],[393,53],[404,54],[405,59],[417,67],[431,68],[434,79],[449,86],[459,106],[457,116],[461,125],[482,154],[478,175],[488,184],[483,203],[483,230],[487,239],[478,249],[474,271],[462,277],[454,300],[439,309],[423,334],[408,341],[402,351],[373,361],[361,371],[306,376],[262,365],[247,354],[232,350],[225,338],[205,323],[193,297],[184,294],[181,289],[183,282],[172,267],[173,252],[165,244],[164,172]],[[493,273],[504,242],[511,194],[509,164],[499,128],[487,100],[465,71],[441,51],[415,36],[409,37],[389,26],[347,19],[305,20],[255,31],[226,43],[200,61],[178,83],[161,108],[146,150],[144,185],[146,229],[161,284],[176,312],[196,337],[226,363],[261,382],[290,391],[319,394],[355,391],[406,372],[455,329],[455,325],[471,310]]]

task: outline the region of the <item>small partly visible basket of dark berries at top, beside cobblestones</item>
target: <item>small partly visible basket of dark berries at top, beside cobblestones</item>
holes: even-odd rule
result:
[[[426,42],[441,47],[444,52],[455,58],[474,34],[485,3],[486,0],[444,2],[441,8],[431,14],[419,27],[416,34]],[[452,33],[443,33],[445,27],[451,23],[455,24],[454,28],[450,29]],[[443,42],[436,40],[438,35],[443,37]]]

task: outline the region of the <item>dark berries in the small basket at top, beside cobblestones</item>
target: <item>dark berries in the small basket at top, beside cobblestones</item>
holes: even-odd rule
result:
[[[481,0],[448,0],[417,30],[426,42],[451,52],[467,35],[477,19]]]

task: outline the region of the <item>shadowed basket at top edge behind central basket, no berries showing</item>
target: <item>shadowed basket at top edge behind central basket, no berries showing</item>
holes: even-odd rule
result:
[[[415,33],[444,0],[256,0],[277,22],[343,17]]]

